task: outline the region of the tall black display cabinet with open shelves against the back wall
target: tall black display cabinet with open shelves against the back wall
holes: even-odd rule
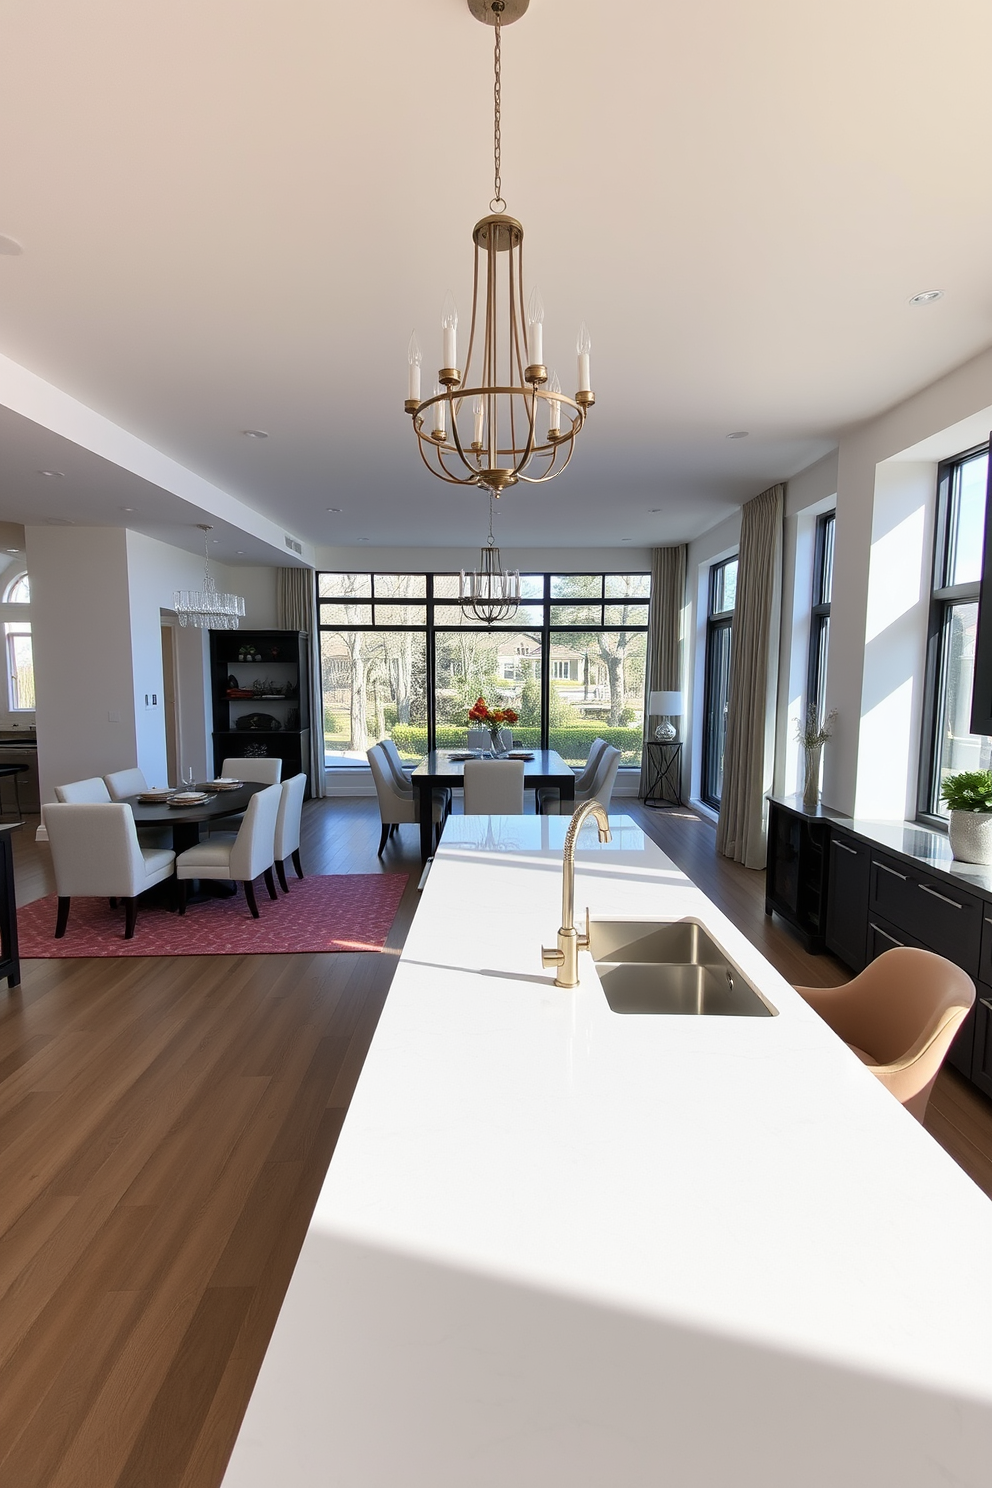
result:
[[[232,756],[283,760],[309,795],[309,637],[305,631],[211,631],[214,772]]]

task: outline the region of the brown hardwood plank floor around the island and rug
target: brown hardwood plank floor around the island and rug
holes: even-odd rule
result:
[[[614,809],[790,981],[846,978],[708,823]],[[21,903],[52,890],[36,823]],[[373,799],[306,808],[308,872],[409,873],[382,954],[28,961],[4,995],[0,1484],[220,1482],[416,908],[416,829],[378,838]],[[992,1193],[992,1104],[944,1071],[927,1125]]]

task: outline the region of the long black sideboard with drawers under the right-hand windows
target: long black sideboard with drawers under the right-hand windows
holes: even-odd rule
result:
[[[935,951],[974,979],[976,1004],[947,1061],[992,1095],[992,866],[958,863],[943,832],[864,821],[800,796],[769,798],[766,914],[809,951],[861,972],[895,945]]]

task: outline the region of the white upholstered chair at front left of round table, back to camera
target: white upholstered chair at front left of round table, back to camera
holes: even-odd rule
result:
[[[103,784],[103,783],[101,783]],[[125,940],[134,936],[138,894],[173,876],[171,848],[140,847],[131,806],[115,801],[55,802],[45,808],[55,868],[61,940],[73,897],[123,899]]]

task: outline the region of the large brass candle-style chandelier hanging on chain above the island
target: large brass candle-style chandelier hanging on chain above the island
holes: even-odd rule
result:
[[[524,228],[504,216],[500,177],[500,39],[529,0],[468,0],[477,21],[495,27],[492,165],[489,216],[476,223],[471,326],[464,375],[458,368],[458,312],[451,295],[442,308],[443,366],[430,397],[421,400],[422,353],[416,333],[408,348],[406,412],[413,420],[427,469],[452,485],[480,485],[498,497],[518,481],[538,484],[561,475],[576,436],[595,403],[589,382],[590,341],[579,332],[579,391],[561,390],[544,366],[544,307],[534,290],[524,299]]]

